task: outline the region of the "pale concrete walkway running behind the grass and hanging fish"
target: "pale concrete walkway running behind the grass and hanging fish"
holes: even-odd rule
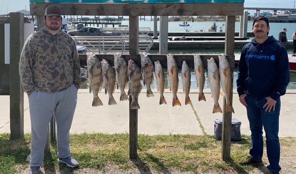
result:
[[[159,93],[154,89],[154,97],[146,97],[146,89],[142,89],[138,100],[138,134],[168,135],[168,134],[193,134],[213,135],[214,120],[222,119],[222,113],[212,113],[213,98],[210,90],[206,89],[206,101],[198,101],[198,90],[190,91],[191,105],[185,105],[185,93],[179,89],[177,94],[182,106],[172,106],[172,93],[165,89],[165,98],[168,104],[159,105]],[[234,90],[235,92],[236,90]],[[126,89],[127,92],[127,89]],[[24,94],[24,132],[30,132],[30,114],[27,94]],[[128,133],[129,109],[128,101],[119,101],[120,93],[115,91],[116,105],[108,105],[108,94],[102,92],[99,97],[103,106],[92,106],[93,94],[89,89],[78,91],[78,104],[70,130],[71,134],[81,133]],[[280,137],[296,137],[296,90],[287,90],[287,94],[281,97]],[[10,96],[0,96],[0,133],[10,133]],[[223,97],[219,104],[223,105]],[[239,102],[238,94],[234,93],[233,107],[235,113],[233,119],[242,122],[241,133],[250,135],[249,123],[245,107]]]

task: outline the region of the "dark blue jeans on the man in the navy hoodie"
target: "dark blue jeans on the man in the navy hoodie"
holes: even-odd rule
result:
[[[263,130],[266,135],[266,149],[269,165],[268,170],[278,172],[280,158],[280,144],[278,138],[280,98],[277,99],[275,110],[266,112],[263,105],[266,98],[256,98],[249,95],[245,98],[248,107],[247,114],[251,130],[250,155],[254,160],[260,160],[263,155]]]

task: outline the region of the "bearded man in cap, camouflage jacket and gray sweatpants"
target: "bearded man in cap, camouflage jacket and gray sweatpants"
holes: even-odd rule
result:
[[[38,173],[44,159],[47,128],[52,115],[57,126],[58,161],[70,167],[78,162],[70,155],[69,130],[80,88],[80,60],[73,38],[60,30],[61,13],[48,6],[45,27],[24,44],[19,73],[29,97],[31,118],[31,161],[29,173]]]

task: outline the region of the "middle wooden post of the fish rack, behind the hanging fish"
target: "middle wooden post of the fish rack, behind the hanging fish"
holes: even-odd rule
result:
[[[129,54],[138,54],[138,16],[129,16]],[[136,98],[138,100],[138,98]],[[129,158],[137,158],[138,109],[130,109],[129,96]]]

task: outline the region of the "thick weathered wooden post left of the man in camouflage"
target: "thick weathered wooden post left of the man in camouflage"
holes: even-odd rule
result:
[[[24,45],[24,14],[10,13],[10,139],[24,137],[24,91],[19,63]]]

